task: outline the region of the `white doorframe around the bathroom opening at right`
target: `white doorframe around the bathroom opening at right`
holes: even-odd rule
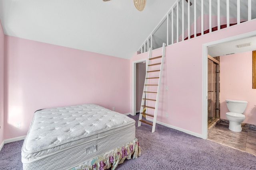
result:
[[[238,39],[256,36],[256,31],[235,35],[232,37],[219,39],[202,45],[202,138],[208,137],[208,47],[222,43],[228,43]]]

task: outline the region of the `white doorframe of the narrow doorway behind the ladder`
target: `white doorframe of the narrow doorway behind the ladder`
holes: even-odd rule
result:
[[[136,64],[146,62],[146,59],[141,59],[132,62],[132,115],[136,115]],[[145,70],[146,71],[146,70]]]

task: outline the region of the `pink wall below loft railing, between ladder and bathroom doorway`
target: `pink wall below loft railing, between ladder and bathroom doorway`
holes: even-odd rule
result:
[[[157,120],[202,135],[202,44],[255,31],[255,25],[252,20],[166,47]],[[152,52],[153,56],[159,54],[161,49]],[[147,55],[134,55],[131,64]]]

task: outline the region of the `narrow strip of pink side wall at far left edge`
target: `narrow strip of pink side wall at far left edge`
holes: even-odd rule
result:
[[[0,145],[4,141],[4,30],[0,21]]]

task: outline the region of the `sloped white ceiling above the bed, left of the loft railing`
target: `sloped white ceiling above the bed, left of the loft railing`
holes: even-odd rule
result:
[[[0,0],[6,35],[130,59],[176,0]]]

